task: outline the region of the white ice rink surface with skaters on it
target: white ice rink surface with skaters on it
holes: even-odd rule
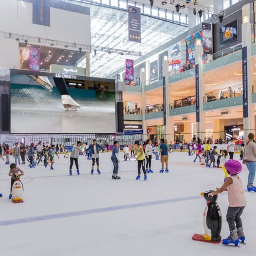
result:
[[[120,153],[123,158],[123,153]],[[238,159],[239,154],[235,154]],[[222,169],[193,163],[187,153],[169,154],[169,173],[160,174],[153,160],[148,180],[135,180],[136,161],[122,161],[121,180],[112,180],[110,153],[100,154],[101,175],[91,175],[91,160],[79,157],[80,176],[69,176],[69,159],[55,159],[54,170],[42,163],[25,172],[24,203],[8,199],[8,166],[0,159],[0,255],[26,256],[170,256],[255,255],[254,192],[246,192],[242,214],[247,245],[241,247],[193,241],[203,233],[206,201],[200,193],[220,187]],[[14,158],[10,156],[10,162]],[[96,167],[95,167],[96,172]],[[96,172],[97,173],[97,172]],[[247,185],[248,171],[240,174]],[[142,175],[143,177],[143,175]],[[223,214],[222,237],[229,235],[225,220],[226,192],[218,201]]]

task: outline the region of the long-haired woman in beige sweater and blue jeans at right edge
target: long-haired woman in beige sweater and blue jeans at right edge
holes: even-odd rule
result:
[[[243,163],[246,165],[247,169],[249,170],[248,176],[248,184],[247,190],[256,192],[256,187],[253,186],[254,178],[255,178],[255,169],[256,169],[256,143],[254,140],[254,134],[248,134],[248,140],[245,143],[244,148],[244,156],[243,156]]]

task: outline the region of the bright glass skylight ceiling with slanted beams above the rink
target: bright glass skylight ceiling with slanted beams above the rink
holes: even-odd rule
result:
[[[111,2],[113,1],[111,0]],[[119,4],[121,2],[127,4],[127,1],[120,0]],[[135,2],[128,1],[129,5],[134,5],[132,3],[135,4]],[[142,43],[130,42],[128,41],[128,11],[91,4],[85,5],[91,9],[92,46],[136,51],[144,55],[187,31],[185,26],[141,15]],[[143,5],[144,13],[146,8],[147,6]],[[150,6],[148,8],[150,10]],[[152,10],[149,13],[153,14]],[[174,16],[172,18],[175,19]],[[182,17],[179,17],[180,21],[181,19]],[[139,57],[99,51],[96,51],[95,55],[95,52],[92,51],[90,54],[90,75],[110,78],[111,73],[124,67],[127,58],[135,60]],[[83,59],[78,66],[86,67],[86,60]]]

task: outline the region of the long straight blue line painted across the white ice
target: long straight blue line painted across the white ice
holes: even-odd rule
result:
[[[97,209],[91,209],[91,210],[81,210],[77,212],[67,212],[67,213],[35,216],[35,217],[28,217],[28,218],[21,218],[21,219],[4,220],[0,222],[0,226],[7,226],[7,225],[13,225],[13,224],[28,223],[28,222],[37,222],[40,220],[60,219],[60,218],[73,217],[73,216],[79,216],[79,215],[87,215],[92,213],[112,212],[115,210],[132,209],[132,208],[138,208],[138,207],[144,207],[144,206],[154,206],[157,204],[175,203],[175,202],[189,201],[189,200],[194,200],[199,198],[202,198],[202,196],[180,197],[180,198],[172,198],[172,199],[165,199],[165,200],[152,201],[152,202],[126,204],[121,206],[111,206],[111,207],[97,208]]]

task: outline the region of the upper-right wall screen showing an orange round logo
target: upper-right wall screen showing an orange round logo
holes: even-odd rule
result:
[[[227,46],[230,43],[238,41],[237,20],[220,27],[220,48]]]

